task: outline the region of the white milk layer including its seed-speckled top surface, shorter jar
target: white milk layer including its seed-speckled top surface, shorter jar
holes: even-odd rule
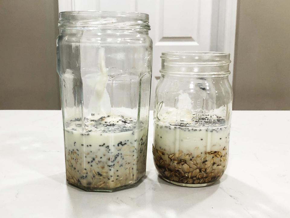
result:
[[[184,106],[185,103],[182,103]],[[160,121],[154,122],[154,142],[158,145],[156,149],[162,148],[177,153],[182,150],[198,155],[205,151],[223,150],[224,147],[228,147],[230,126],[221,116],[196,113],[186,108],[163,107],[162,110],[158,115]],[[220,111],[215,110],[218,113]]]

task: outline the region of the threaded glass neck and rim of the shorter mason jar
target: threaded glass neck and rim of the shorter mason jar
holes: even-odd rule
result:
[[[161,73],[229,74],[230,54],[214,51],[162,52]]]

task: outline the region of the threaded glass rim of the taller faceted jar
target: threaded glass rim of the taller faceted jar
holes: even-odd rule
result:
[[[149,15],[138,12],[60,12],[58,28],[150,30]]]

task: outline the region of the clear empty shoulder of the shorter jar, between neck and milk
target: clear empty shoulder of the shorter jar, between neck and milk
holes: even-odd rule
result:
[[[161,78],[155,91],[155,104],[162,101],[170,107],[184,105],[211,109],[231,104],[232,100],[233,91],[228,78],[194,80]]]

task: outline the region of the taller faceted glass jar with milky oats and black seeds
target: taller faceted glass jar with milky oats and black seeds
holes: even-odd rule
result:
[[[131,187],[146,171],[149,16],[61,12],[59,28],[66,179],[85,190]]]

